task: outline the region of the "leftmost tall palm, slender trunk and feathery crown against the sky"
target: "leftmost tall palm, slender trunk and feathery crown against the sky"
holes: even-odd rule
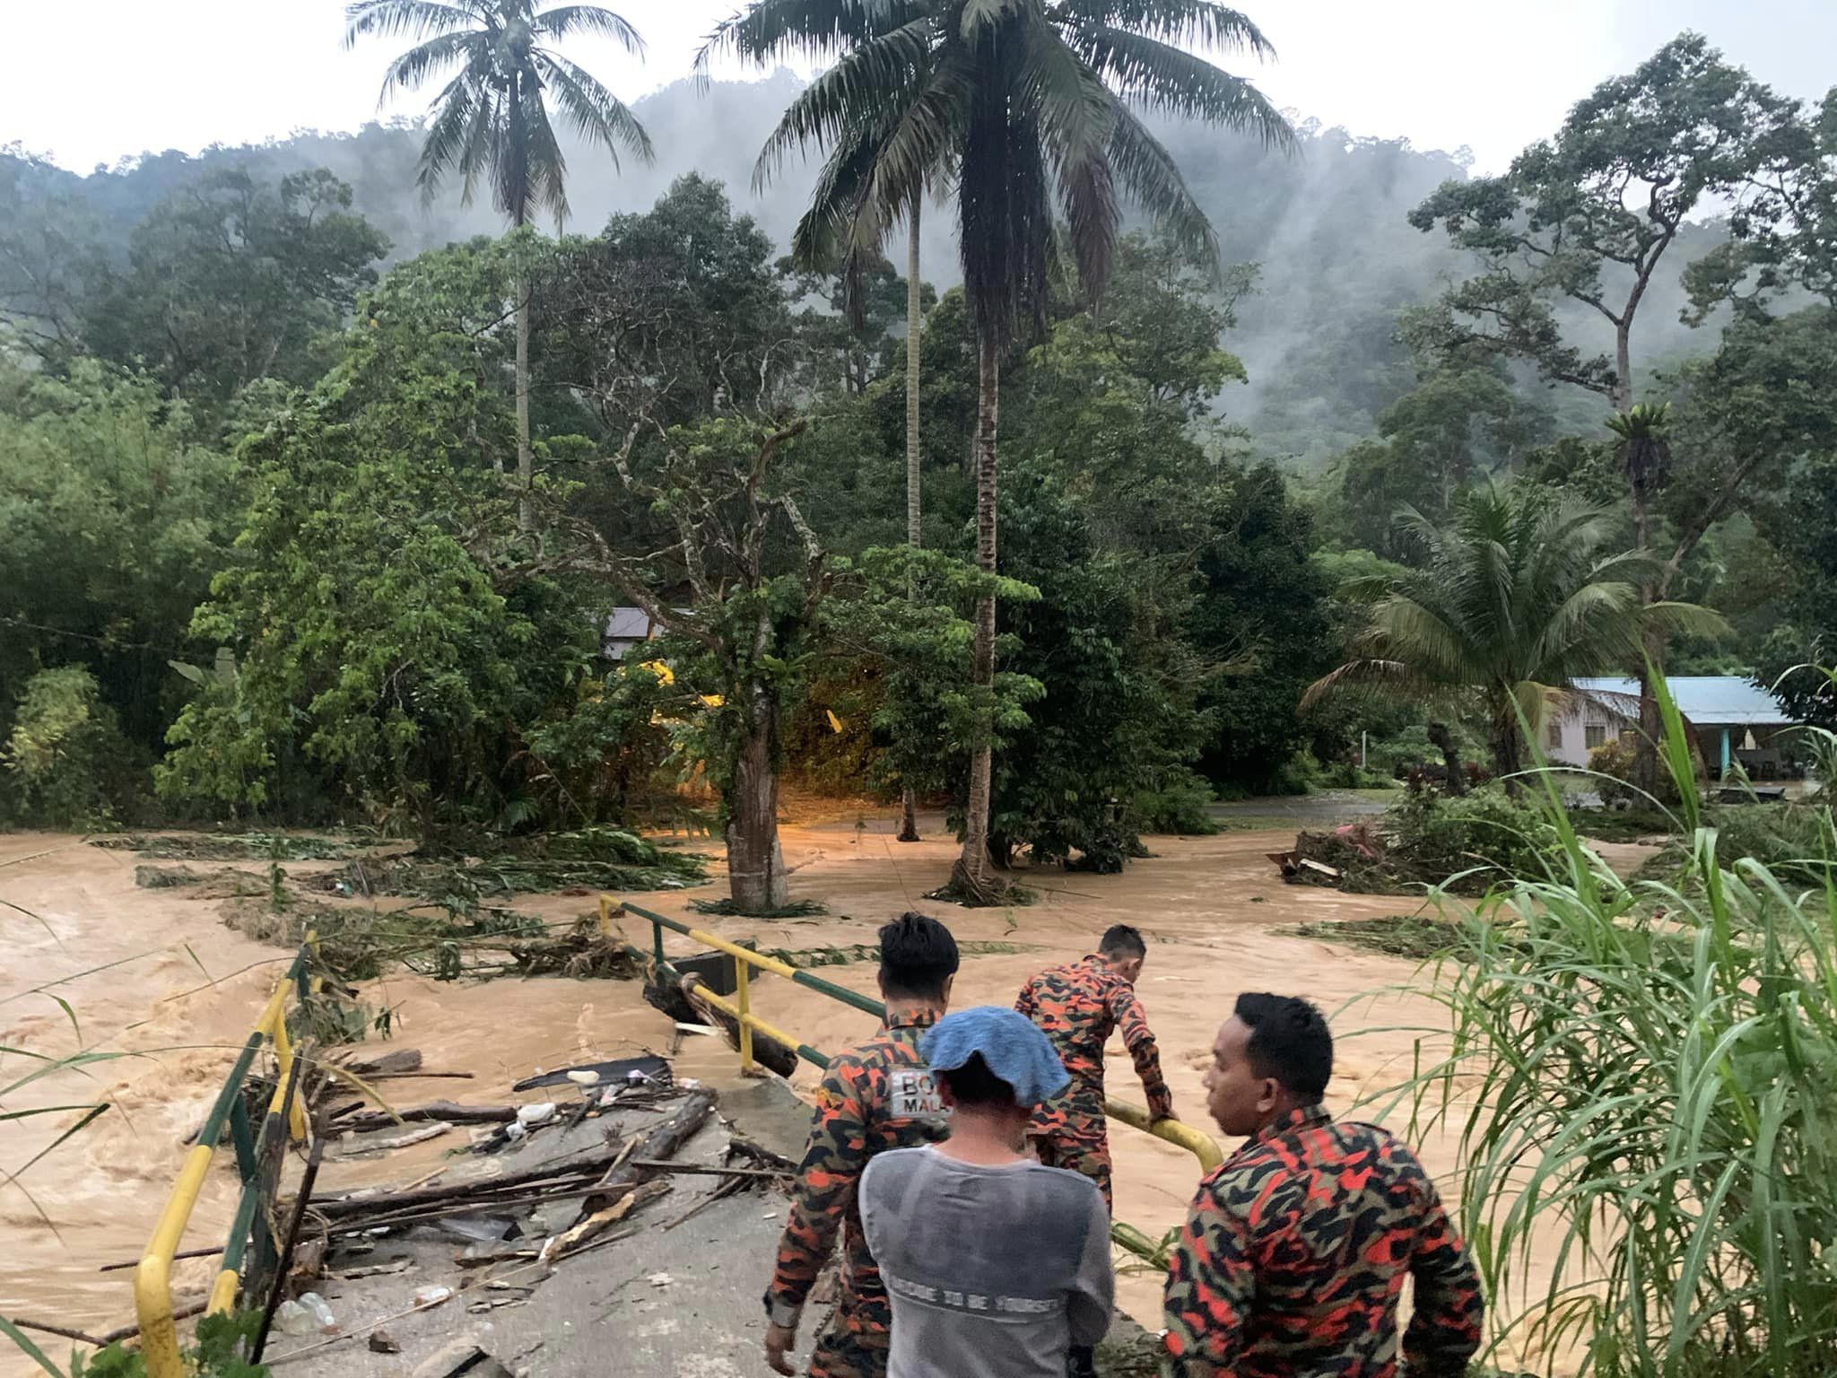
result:
[[[643,53],[637,29],[599,6],[557,6],[535,0],[355,0],[345,7],[345,48],[364,35],[411,37],[382,77],[378,105],[395,92],[454,72],[434,97],[415,184],[432,202],[454,173],[461,200],[472,204],[479,180],[490,180],[492,204],[522,228],[538,211],[557,224],[568,215],[560,141],[549,119],[553,101],[562,119],[619,165],[619,149],[652,158],[650,136],[637,118],[590,72],[546,44],[571,35],[612,39]],[[529,489],[535,459],[529,446],[529,288],[516,283],[516,481],[524,494],[520,522],[531,525]]]

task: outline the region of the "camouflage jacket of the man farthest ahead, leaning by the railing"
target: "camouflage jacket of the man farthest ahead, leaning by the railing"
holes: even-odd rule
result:
[[[1102,955],[1093,952],[1084,961],[1040,972],[1021,987],[1014,1009],[1045,1033],[1071,1073],[1071,1086],[1049,1101],[1047,1110],[1071,1102],[1089,1108],[1095,1101],[1097,1113],[1102,1115],[1104,1044],[1113,1031],[1122,1029],[1135,1075],[1148,1093],[1148,1113],[1157,1119],[1174,1113],[1174,1097],[1161,1077],[1161,1055],[1135,987],[1110,970]]]

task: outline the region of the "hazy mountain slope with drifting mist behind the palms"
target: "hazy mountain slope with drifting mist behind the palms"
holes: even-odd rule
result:
[[[737,211],[753,215],[781,244],[803,211],[816,162],[790,160],[762,189],[753,162],[779,114],[801,88],[790,72],[757,83],[698,88],[680,81],[636,103],[658,149],[654,165],[603,151],[569,149],[568,230],[592,232],[615,211],[645,209],[689,171],[718,178]],[[1293,156],[1257,140],[1190,123],[1159,123],[1157,134],[1185,171],[1194,195],[1218,228],[1227,263],[1258,265],[1257,290],[1238,303],[1238,325],[1225,345],[1244,358],[1247,386],[1220,399],[1244,424],[1255,448],[1301,470],[1323,467],[1347,445],[1374,432],[1378,412],[1414,382],[1394,344],[1402,307],[1437,296],[1471,270],[1438,233],[1413,230],[1405,215],[1438,184],[1464,178],[1464,151],[1414,149],[1407,140],[1358,138],[1343,129],[1301,123]],[[424,206],[415,187],[421,130],[408,121],[371,123],[355,134],[296,132],[263,145],[213,147],[191,156],[149,152],[88,176],[0,154],[0,195],[62,197],[81,204],[97,226],[103,252],[125,252],[132,226],[165,195],[206,167],[241,164],[263,176],[329,167],[351,184],[360,209],[391,241],[391,261],[421,250],[498,233],[502,219],[489,197],[461,204],[456,187]],[[1708,347],[1677,322],[1683,294],[1675,274],[1699,254],[1679,244],[1670,272],[1655,283],[1640,316],[1644,358]],[[889,246],[904,263],[902,246]],[[924,274],[941,288],[959,279],[953,217],[939,208],[924,220]],[[1606,347],[1607,327],[1585,312],[1565,316],[1580,342]],[[1528,386],[1534,386],[1527,380]],[[1580,397],[1558,397],[1572,408]]]

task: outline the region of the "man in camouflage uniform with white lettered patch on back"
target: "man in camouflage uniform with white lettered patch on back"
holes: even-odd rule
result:
[[[843,1237],[836,1319],[810,1354],[810,1378],[885,1378],[893,1308],[867,1251],[856,1189],[874,1154],[942,1139],[950,1121],[918,1055],[942,1018],[957,974],[957,941],[937,919],[900,915],[880,930],[880,994],[887,1020],[838,1053],[816,1093],[810,1145],[766,1290],[766,1363],[795,1372],[790,1350],[816,1275]]]

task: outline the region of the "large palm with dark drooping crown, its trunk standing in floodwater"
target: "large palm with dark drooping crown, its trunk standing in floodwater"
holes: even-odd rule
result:
[[[1137,108],[1290,143],[1282,116],[1242,77],[1181,44],[1268,55],[1249,18],[1211,0],[757,0],[711,50],[766,62],[834,61],[784,112],[759,158],[770,178],[792,149],[823,171],[794,252],[840,250],[845,281],[917,209],[924,186],[957,191],[963,281],[977,338],[977,562],[996,568],[996,428],[1009,347],[1043,325],[1054,215],[1078,279],[1102,290],[1122,198],[1216,263],[1205,213]],[[1133,107],[1133,108],[1132,108]],[[974,683],[992,693],[996,606],[975,616]],[[986,898],[990,746],[970,757],[957,889]]]

